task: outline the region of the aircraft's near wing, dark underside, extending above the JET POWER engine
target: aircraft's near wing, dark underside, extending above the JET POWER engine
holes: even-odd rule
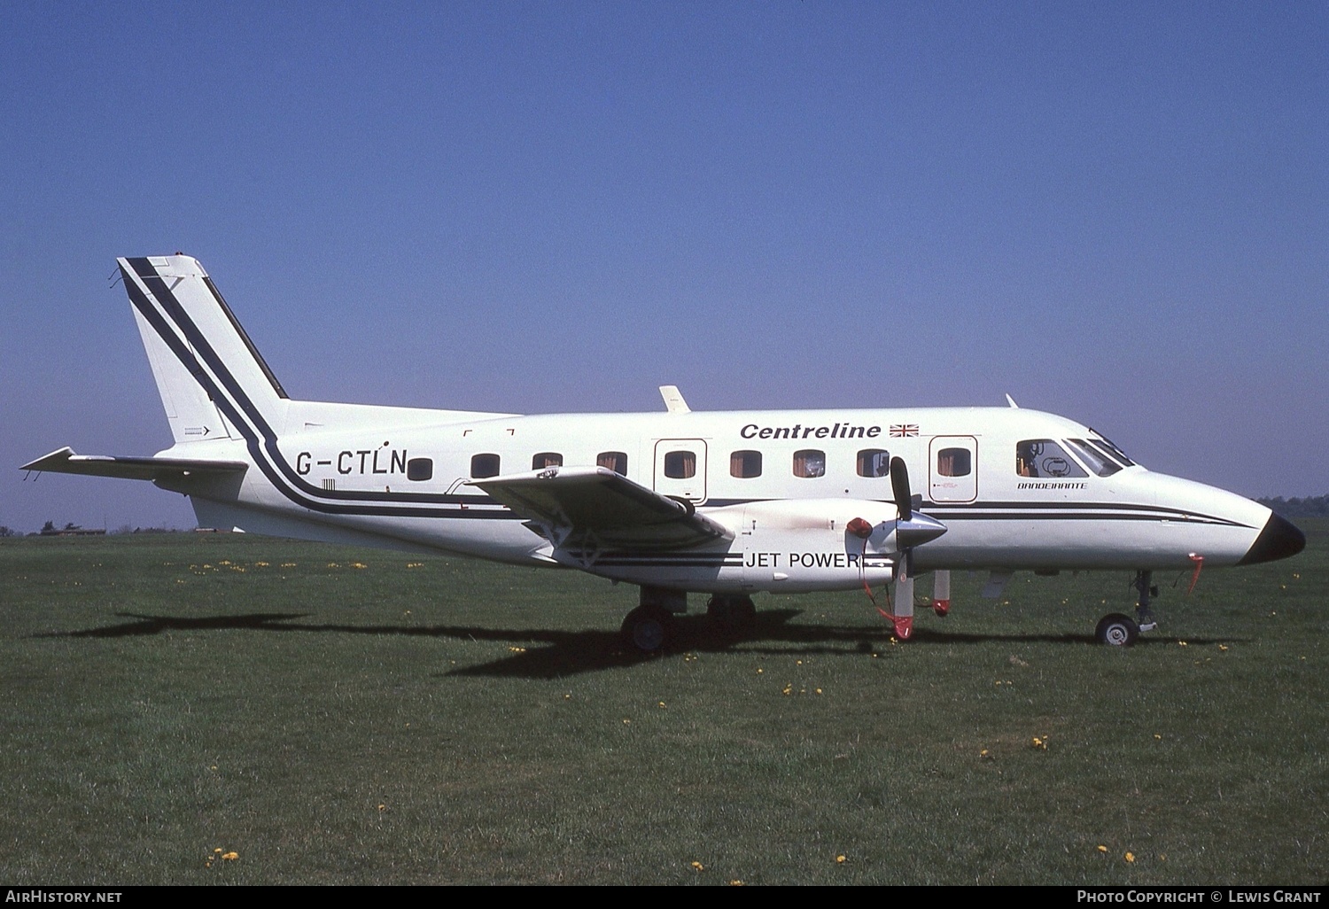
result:
[[[734,537],[691,502],[607,468],[546,468],[470,485],[528,518],[554,546],[680,549]]]

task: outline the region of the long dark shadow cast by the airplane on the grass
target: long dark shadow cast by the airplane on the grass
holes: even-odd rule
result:
[[[242,615],[209,615],[185,618],[174,615],[141,615],[117,613],[129,619],[118,625],[78,631],[60,631],[37,635],[43,638],[133,638],[165,631],[284,631],[303,634],[368,634],[405,635],[452,641],[506,643],[509,653],[498,659],[455,668],[440,675],[489,675],[513,678],[558,678],[579,672],[633,666],[662,656],[684,653],[723,653],[742,650],[750,654],[816,654],[825,656],[853,656],[867,653],[885,653],[893,649],[890,629],[849,627],[840,625],[795,625],[801,615],[796,609],[773,609],[758,613],[755,623],[744,631],[718,627],[706,615],[679,615],[674,619],[670,645],[659,653],[646,654],[623,643],[613,630],[583,629],[561,631],[553,629],[502,629],[464,625],[344,625],[294,623],[310,613],[247,613]],[[917,629],[914,639],[901,647],[928,645],[979,645],[994,641],[1011,643],[1062,643],[1096,646],[1092,635],[1079,634],[971,634]],[[1216,643],[1217,639],[1193,639],[1195,645]],[[1171,645],[1170,638],[1140,638],[1135,646]]]

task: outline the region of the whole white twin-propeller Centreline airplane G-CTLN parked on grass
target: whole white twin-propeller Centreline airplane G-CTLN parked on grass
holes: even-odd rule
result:
[[[894,583],[893,634],[913,635],[913,582],[950,571],[1152,573],[1252,565],[1305,536],[1241,496],[1154,473],[1104,435],[1007,407],[695,412],[674,385],[657,413],[534,415],[292,400],[191,256],[118,259],[174,444],[150,457],[61,448],[21,469],[150,480],[199,526],[570,567],[637,585],[626,641],[663,647],[690,593],[722,627],[752,594]],[[914,493],[909,477],[921,480]],[[874,602],[874,598],[873,598]]]

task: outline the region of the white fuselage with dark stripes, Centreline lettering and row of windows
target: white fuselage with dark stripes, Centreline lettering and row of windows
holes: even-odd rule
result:
[[[1192,554],[1235,565],[1271,514],[1233,493],[1138,465],[1099,476],[1066,441],[1095,433],[1017,408],[510,416],[284,404],[284,425],[272,427],[268,443],[187,443],[162,452],[187,448],[197,457],[206,448],[210,457],[256,468],[238,489],[215,481],[173,486],[194,497],[202,524],[567,563],[690,590],[812,590],[853,587],[864,567],[877,569],[869,581],[889,579],[886,562],[865,566],[843,530],[817,526],[824,516],[841,529],[855,516],[893,518],[890,480],[880,466],[888,457],[904,458],[918,509],[948,528],[917,549],[916,571],[1181,569]],[[1059,449],[1045,456],[1051,473],[1021,461],[1018,448],[1030,441]],[[623,472],[622,460],[630,480],[688,500],[734,538],[706,546],[708,561],[569,561],[468,485],[476,476],[556,461]],[[797,502],[815,505],[800,517]]]

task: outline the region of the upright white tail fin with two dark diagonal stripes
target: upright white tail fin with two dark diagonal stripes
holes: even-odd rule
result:
[[[118,263],[175,443],[279,432],[287,395],[198,259]]]

